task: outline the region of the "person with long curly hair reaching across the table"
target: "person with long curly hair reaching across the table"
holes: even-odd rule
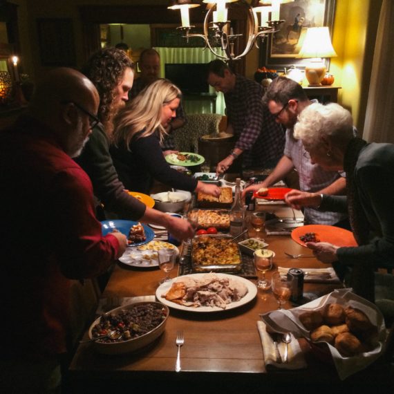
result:
[[[180,220],[151,209],[124,191],[118,178],[111,155],[109,142],[113,130],[113,116],[129,99],[128,93],[133,85],[133,62],[123,50],[105,48],[99,50],[84,66],[84,74],[91,79],[100,95],[97,112],[100,123],[93,127],[90,140],[86,143],[77,162],[88,173],[93,184],[94,194],[99,200],[97,207],[104,205],[105,212],[113,212],[112,218],[153,223],[169,229],[179,239],[193,236],[194,230],[185,220]],[[104,219],[99,208],[100,219]]]

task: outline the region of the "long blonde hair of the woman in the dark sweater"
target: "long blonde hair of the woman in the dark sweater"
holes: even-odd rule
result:
[[[138,94],[129,106],[120,110],[113,122],[113,142],[116,147],[129,149],[133,136],[142,131],[138,138],[153,134],[156,129],[160,140],[166,135],[161,124],[162,106],[182,96],[180,90],[167,79],[158,79]]]

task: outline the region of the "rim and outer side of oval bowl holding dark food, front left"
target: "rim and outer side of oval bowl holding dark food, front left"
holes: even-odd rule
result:
[[[131,353],[135,350],[139,350],[151,344],[155,339],[162,335],[162,332],[165,330],[165,326],[167,323],[167,319],[169,317],[169,308],[157,301],[142,301],[138,303],[130,303],[125,306],[120,306],[109,312],[106,312],[105,315],[118,315],[122,310],[131,310],[135,308],[135,306],[144,306],[146,304],[153,304],[156,308],[162,310],[163,319],[162,321],[145,334],[140,337],[131,338],[127,340],[119,340],[115,342],[102,342],[102,341],[93,341],[93,346],[97,352],[105,354],[105,355],[122,355],[124,353]],[[91,327],[89,328],[88,335],[90,339],[93,339],[93,328],[100,323],[102,318],[99,317],[95,321],[93,321]]]

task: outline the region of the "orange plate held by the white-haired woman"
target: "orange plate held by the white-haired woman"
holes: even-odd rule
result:
[[[314,232],[321,242],[332,243],[337,246],[357,246],[353,233],[340,227],[327,225],[306,225],[292,231],[292,239],[301,246],[306,246],[299,238],[307,232]]]

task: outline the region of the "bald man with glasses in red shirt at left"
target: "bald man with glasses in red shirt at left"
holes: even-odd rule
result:
[[[0,133],[1,393],[59,390],[72,335],[71,279],[105,272],[126,250],[102,236],[93,189],[72,160],[97,118],[95,86],[71,68],[46,75],[28,113]],[[11,325],[11,326],[10,326]],[[59,391],[58,391],[59,392]]]

